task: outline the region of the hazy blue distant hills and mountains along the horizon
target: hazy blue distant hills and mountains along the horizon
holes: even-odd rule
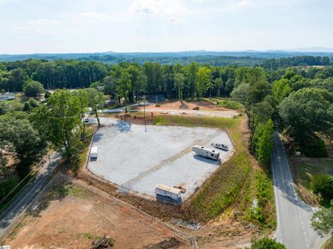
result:
[[[81,60],[100,61],[110,64],[119,62],[138,62],[140,64],[147,61],[156,61],[161,64],[183,63],[188,64],[197,61],[200,64],[209,63],[211,65],[258,65],[266,59],[290,58],[300,55],[328,56],[333,60],[333,49],[314,47],[291,50],[267,50],[267,51],[180,51],[180,52],[133,52],[117,53],[105,51],[101,53],[33,53],[19,55],[0,55],[0,62],[15,60],[44,59],[44,60]]]

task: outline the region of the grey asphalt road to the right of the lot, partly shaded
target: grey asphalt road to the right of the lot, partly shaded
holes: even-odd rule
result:
[[[319,237],[311,228],[310,218],[314,210],[296,194],[287,156],[278,132],[274,134],[272,169],[278,216],[276,240],[282,242],[288,249],[318,249],[325,239]]]

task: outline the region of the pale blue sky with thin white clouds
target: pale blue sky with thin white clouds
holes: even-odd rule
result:
[[[333,47],[333,0],[0,0],[1,53]]]

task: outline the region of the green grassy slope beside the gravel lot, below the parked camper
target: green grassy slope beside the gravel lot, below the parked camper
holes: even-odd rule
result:
[[[235,153],[203,184],[198,194],[186,203],[189,218],[209,221],[222,214],[237,199],[249,172],[248,155]]]

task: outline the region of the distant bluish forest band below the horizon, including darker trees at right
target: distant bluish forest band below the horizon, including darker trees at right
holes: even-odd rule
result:
[[[325,58],[321,60],[321,58]],[[292,51],[184,51],[165,53],[36,53],[28,55],[0,55],[0,62],[15,60],[78,60],[97,61],[110,65],[121,62],[158,62],[164,64],[189,65],[198,62],[200,65],[212,66],[263,66],[269,68],[292,67],[298,65],[330,65],[333,53],[292,52]]]

